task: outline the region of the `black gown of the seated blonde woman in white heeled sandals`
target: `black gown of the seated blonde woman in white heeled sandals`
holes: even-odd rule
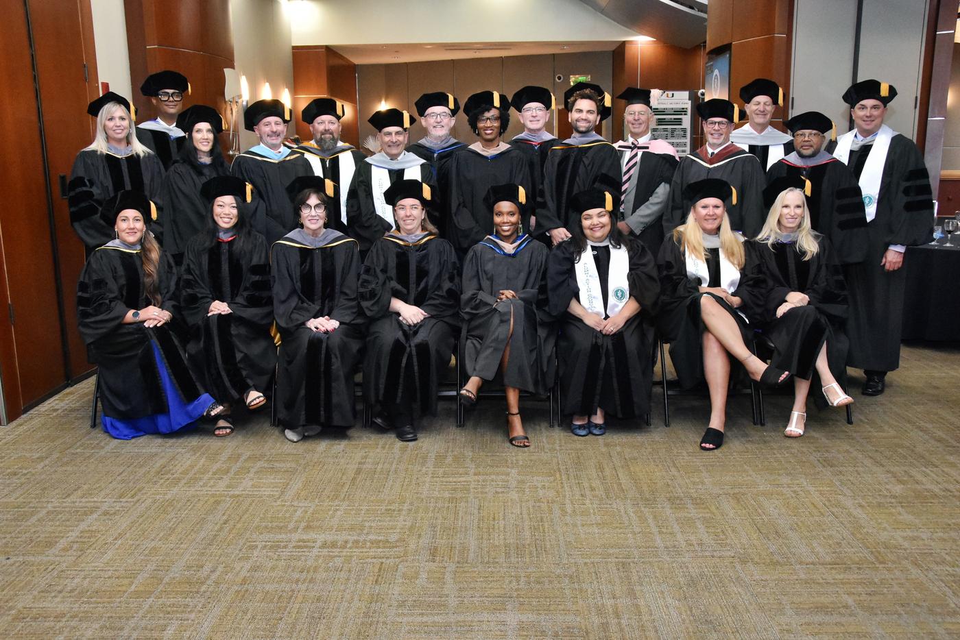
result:
[[[846,377],[849,346],[844,333],[847,285],[829,241],[820,237],[818,244],[817,253],[804,260],[793,243],[776,243],[771,247],[751,241],[760,273],[768,285],[762,316],[756,324],[774,344],[770,361],[774,367],[809,380],[815,372],[817,354],[827,343],[830,371],[842,383]],[[805,294],[810,301],[790,308],[777,318],[777,309],[790,292]]]

